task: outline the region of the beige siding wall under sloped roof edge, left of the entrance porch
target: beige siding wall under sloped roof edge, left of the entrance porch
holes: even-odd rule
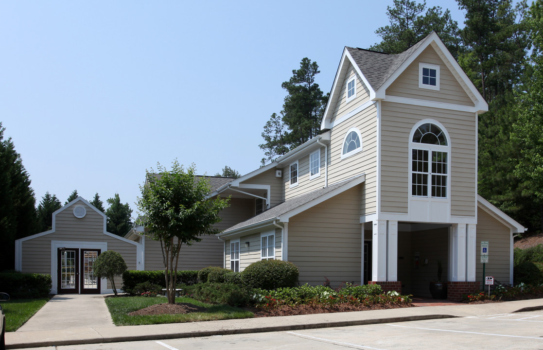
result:
[[[362,226],[361,186],[295,215],[288,222],[288,260],[300,270],[300,284],[330,279],[360,283]]]

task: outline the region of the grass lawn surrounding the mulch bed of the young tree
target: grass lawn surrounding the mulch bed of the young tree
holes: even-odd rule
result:
[[[248,319],[254,315],[250,311],[231,307],[228,305],[212,305],[196,301],[191,298],[175,298],[176,303],[191,303],[207,309],[201,313],[173,314],[173,315],[143,315],[129,316],[128,313],[146,308],[154,304],[168,302],[166,297],[110,297],[105,299],[111,319],[116,326],[137,326],[138,324],[179,323],[193,321]]]

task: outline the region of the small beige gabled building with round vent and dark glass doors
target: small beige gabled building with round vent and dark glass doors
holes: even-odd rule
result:
[[[104,213],[78,197],[53,213],[52,230],[15,241],[15,270],[50,274],[52,294],[112,293],[92,270],[107,250],[119,252],[129,270],[143,270],[143,245],[107,232]],[[120,277],[115,285],[121,288]]]

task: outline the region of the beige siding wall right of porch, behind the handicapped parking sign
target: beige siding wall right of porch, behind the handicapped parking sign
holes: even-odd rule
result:
[[[491,217],[481,208],[477,208],[477,244],[476,244],[476,279],[483,283],[483,264],[481,264],[481,241],[488,241],[488,263],[486,275],[494,277],[496,281],[509,284],[510,264],[510,237],[509,227]]]

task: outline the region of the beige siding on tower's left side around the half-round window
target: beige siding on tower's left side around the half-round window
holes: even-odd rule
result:
[[[377,109],[372,105],[331,130],[329,147],[328,183],[334,184],[365,173],[362,190],[362,214],[376,213],[377,209]],[[362,151],[341,158],[343,140],[351,127],[362,136]]]

